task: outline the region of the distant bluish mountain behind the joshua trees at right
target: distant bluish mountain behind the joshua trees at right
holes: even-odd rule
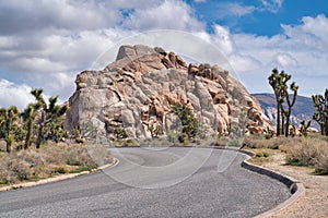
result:
[[[253,94],[260,102],[265,110],[266,116],[276,124],[277,121],[277,101],[274,94]],[[284,108],[288,108],[286,105]],[[296,104],[292,109],[291,121],[296,126],[300,125],[302,120],[311,120],[315,112],[312,98],[297,96]],[[316,121],[312,122],[312,126],[319,129]]]

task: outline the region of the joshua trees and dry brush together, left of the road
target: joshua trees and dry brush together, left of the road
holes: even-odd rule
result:
[[[96,168],[87,148],[75,143],[80,135],[63,130],[68,106],[58,105],[57,96],[46,101],[43,89],[31,94],[35,102],[22,112],[15,106],[0,109],[0,185]],[[113,161],[109,152],[102,153],[102,164]]]

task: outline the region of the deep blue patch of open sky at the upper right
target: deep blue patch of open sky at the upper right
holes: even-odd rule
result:
[[[328,12],[325,0],[207,0],[187,1],[199,20],[212,32],[213,24],[229,26],[231,32],[265,36],[283,34],[281,24],[298,25],[303,16],[316,16]],[[263,3],[263,2],[267,2]]]

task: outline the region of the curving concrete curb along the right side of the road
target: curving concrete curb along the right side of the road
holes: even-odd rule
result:
[[[244,154],[249,155],[250,157],[254,156],[254,154],[250,152],[247,152],[247,150],[244,150],[244,152],[243,152]],[[268,211],[257,215],[256,218],[271,217],[271,216],[278,214],[279,211],[285,209],[286,207],[291,206],[294,202],[296,202],[296,199],[298,199],[298,197],[301,197],[305,194],[305,187],[304,187],[303,183],[291,177],[283,175],[278,172],[274,172],[272,170],[268,170],[266,168],[253,165],[249,161],[247,161],[247,159],[242,162],[242,167],[244,167],[245,169],[251,170],[254,172],[268,175],[274,180],[282,182],[290,189],[290,192],[292,193],[292,196],[289,197],[286,201],[280,203],[279,205],[277,205],[276,207],[273,207],[272,209],[270,209]]]

